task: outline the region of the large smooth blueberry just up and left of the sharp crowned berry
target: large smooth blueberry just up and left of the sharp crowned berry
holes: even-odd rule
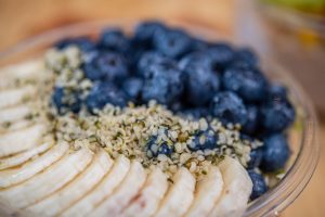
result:
[[[220,88],[219,76],[204,60],[188,61],[183,71],[186,75],[186,102],[195,106],[208,104]]]

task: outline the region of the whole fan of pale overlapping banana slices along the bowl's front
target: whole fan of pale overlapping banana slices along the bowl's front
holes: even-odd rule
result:
[[[183,167],[169,179],[122,155],[55,142],[41,114],[30,118],[42,90],[28,80],[42,71],[34,61],[0,73],[0,216],[243,215],[252,183],[231,157],[199,181]]]

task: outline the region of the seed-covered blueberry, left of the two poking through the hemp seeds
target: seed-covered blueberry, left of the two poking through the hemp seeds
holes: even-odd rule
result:
[[[168,145],[166,141],[157,142],[157,137],[153,136],[146,143],[147,155],[150,157],[157,157],[159,154],[170,156],[173,152],[172,146]],[[148,154],[148,152],[151,154]]]

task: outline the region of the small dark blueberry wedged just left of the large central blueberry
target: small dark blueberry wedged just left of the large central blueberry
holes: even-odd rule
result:
[[[141,78],[131,77],[123,81],[122,90],[133,102],[140,100],[143,89],[143,80]]]

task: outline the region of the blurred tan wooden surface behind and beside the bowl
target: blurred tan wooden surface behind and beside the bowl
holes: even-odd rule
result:
[[[183,20],[231,33],[231,0],[0,0],[0,51],[53,27],[101,18]],[[325,141],[321,125],[320,141]],[[303,193],[281,216],[325,216],[325,150]]]

